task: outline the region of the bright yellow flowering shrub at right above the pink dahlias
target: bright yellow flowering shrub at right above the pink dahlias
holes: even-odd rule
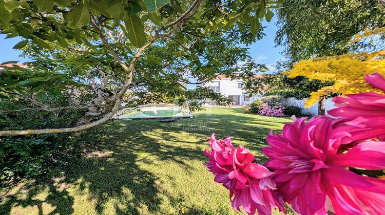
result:
[[[376,90],[365,82],[367,74],[375,72],[385,76],[385,50],[372,53],[348,53],[333,57],[322,57],[309,60],[301,60],[291,71],[286,72],[287,76],[305,76],[309,80],[333,81],[334,84],[313,92],[305,106],[310,107],[325,94],[342,93],[354,94]]]

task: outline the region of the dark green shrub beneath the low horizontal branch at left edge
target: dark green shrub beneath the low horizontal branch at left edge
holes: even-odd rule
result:
[[[7,137],[0,141],[0,187],[25,177],[52,171],[62,162],[75,142],[68,135]]]

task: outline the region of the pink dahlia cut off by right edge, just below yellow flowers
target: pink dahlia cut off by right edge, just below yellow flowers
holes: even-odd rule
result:
[[[385,93],[385,79],[379,74],[365,76],[365,80],[374,88]],[[346,97],[333,99],[336,109],[328,114],[343,121],[355,120],[363,125],[365,130],[352,133],[352,140],[366,140],[378,137],[385,140],[385,95],[374,92],[350,94]]]

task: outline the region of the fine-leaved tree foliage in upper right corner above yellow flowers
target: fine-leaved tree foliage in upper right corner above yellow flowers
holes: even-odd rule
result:
[[[373,40],[352,43],[365,30],[385,26],[380,0],[287,0],[277,13],[277,45],[285,46],[288,67],[315,57],[375,48]]]

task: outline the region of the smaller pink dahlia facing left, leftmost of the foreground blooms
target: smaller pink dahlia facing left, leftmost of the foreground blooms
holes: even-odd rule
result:
[[[273,175],[266,167],[252,163],[255,157],[242,145],[234,148],[230,138],[216,140],[214,134],[209,140],[211,152],[205,165],[214,173],[214,181],[230,190],[230,201],[236,210],[240,206],[248,213],[271,214],[271,207],[284,211],[283,201],[275,191]]]

